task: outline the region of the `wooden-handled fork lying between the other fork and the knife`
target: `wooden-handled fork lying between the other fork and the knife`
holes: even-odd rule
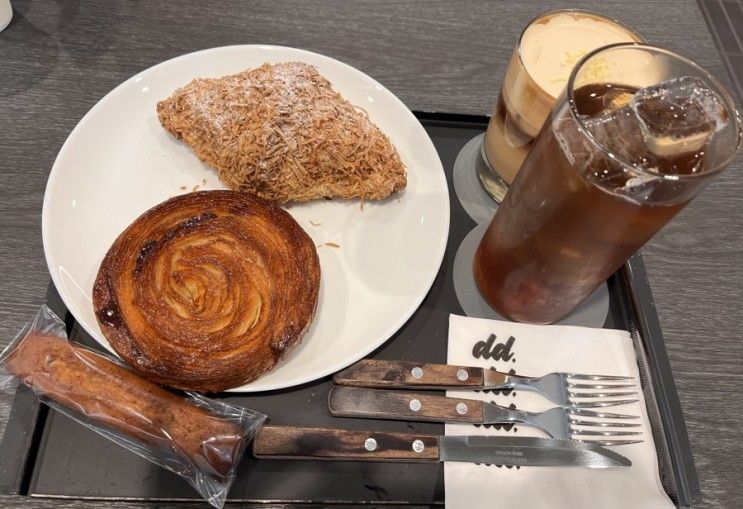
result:
[[[474,399],[336,386],[328,396],[328,409],[331,415],[338,417],[470,424],[520,423],[538,428],[552,438],[603,446],[642,442],[642,431],[627,430],[641,426],[639,422],[628,422],[639,417],[575,407],[526,412]]]

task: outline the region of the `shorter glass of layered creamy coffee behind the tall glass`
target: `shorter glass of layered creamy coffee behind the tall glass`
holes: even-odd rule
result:
[[[478,177],[495,201],[503,200],[576,62],[601,46],[642,41],[614,19],[575,9],[549,11],[527,25],[480,150]]]

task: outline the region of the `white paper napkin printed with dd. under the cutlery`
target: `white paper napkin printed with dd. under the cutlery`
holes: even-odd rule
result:
[[[449,317],[448,363],[494,367],[498,371],[540,376],[553,371],[625,375],[639,380],[632,339],[626,331],[525,325],[480,318]],[[446,506],[451,509],[520,508],[672,508],[663,490],[642,392],[638,403],[610,412],[640,415],[643,442],[613,447],[632,460],[629,468],[513,467],[447,462]],[[520,410],[554,406],[526,391],[449,391],[449,396],[494,401]],[[447,435],[545,437],[515,425],[447,424]]]

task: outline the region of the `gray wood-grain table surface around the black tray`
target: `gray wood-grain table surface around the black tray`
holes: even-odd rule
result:
[[[120,82],[176,55],[229,44],[294,46],[361,69],[411,109],[489,114],[520,29],[542,10],[575,6],[616,16],[727,80],[692,1],[13,4],[15,18],[0,33],[0,344],[44,299],[42,197],[65,138]],[[739,158],[643,248],[701,479],[700,507],[743,507],[741,166]],[[0,430],[10,402],[0,396]],[[151,504],[5,496],[0,506]]]

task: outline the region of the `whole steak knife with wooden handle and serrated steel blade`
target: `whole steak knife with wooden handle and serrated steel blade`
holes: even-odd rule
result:
[[[258,458],[606,468],[632,462],[614,451],[571,440],[437,436],[293,426],[264,426],[253,442]]]

